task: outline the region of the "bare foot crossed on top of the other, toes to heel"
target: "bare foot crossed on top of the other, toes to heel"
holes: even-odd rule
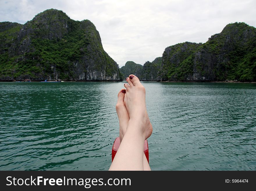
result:
[[[124,84],[126,88],[124,103],[130,117],[129,123],[140,124],[140,130],[146,140],[153,130],[146,109],[146,90],[138,77],[133,74],[126,81],[129,85]]]

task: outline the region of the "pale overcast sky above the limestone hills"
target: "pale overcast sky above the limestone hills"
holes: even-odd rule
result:
[[[0,0],[0,21],[24,24],[50,8],[92,21],[120,67],[153,61],[177,43],[205,43],[228,23],[256,27],[255,0]]]

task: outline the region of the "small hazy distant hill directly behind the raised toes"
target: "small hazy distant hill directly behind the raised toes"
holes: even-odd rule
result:
[[[120,72],[123,74],[123,80],[125,80],[130,74],[134,74],[141,79],[143,66],[141,64],[136,64],[133,61],[127,61],[125,66],[120,68]]]

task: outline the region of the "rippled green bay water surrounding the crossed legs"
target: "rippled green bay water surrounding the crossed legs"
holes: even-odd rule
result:
[[[256,84],[143,85],[152,170],[256,170]],[[121,88],[0,83],[0,170],[108,170]]]

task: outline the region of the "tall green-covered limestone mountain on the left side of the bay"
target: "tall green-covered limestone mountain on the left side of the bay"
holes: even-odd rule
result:
[[[31,21],[0,23],[0,79],[122,80],[93,23],[46,10]]]

